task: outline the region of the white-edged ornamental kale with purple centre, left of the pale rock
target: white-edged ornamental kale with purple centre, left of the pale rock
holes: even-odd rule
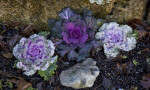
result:
[[[30,38],[22,38],[14,48],[13,55],[19,60],[17,68],[22,69],[27,76],[37,70],[45,71],[57,56],[54,55],[54,44],[44,36],[34,34]]]

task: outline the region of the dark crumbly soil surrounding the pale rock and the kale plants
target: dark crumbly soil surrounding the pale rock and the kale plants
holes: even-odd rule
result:
[[[7,27],[9,28],[9,27]],[[4,41],[7,43],[9,38],[16,36],[21,29],[7,29],[2,35]],[[11,51],[10,47],[9,50]],[[51,77],[49,82],[46,82],[39,75],[25,76],[22,71],[14,68],[15,58],[6,59],[2,56],[5,49],[0,46],[0,79],[2,82],[6,82],[11,78],[22,77],[27,82],[30,82],[34,88],[39,90],[73,90],[72,88],[64,87],[60,84],[59,75],[61,71],[76,64],[74,61],[67,61],[65,58],[59,58],[56,74]],[[150,65],[146,62],[147,58],[150,58],[150,38],[146,35],[144,38],[138,41],[137,46],[130,52],[121,52],[120,57],[107,60],[103,53],[103,49],[97,53],[91,53],[92,58],[97,61],[97,66],[100,69],[100,74],[97,77],[95,84],[91,88],[82,90],[107,90],[107,89],[119,89],[125,90],[143,90],[140,85],[142,76],[150,73]],[[135,62],[136,61],[136,62]],[[13,84],[13,88],[17,88],[16,84]],[[3,90],[12,90],[8,85],[3,86]]]

